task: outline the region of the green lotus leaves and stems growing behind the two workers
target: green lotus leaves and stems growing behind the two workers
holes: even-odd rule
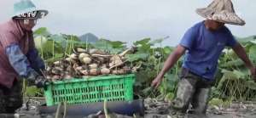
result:
[[[77,36],[50,34],[44,27],[34,31],[34,37],[38,52],[46,64],[72,53],[73,48],[98,48],[108,53],[120,53],[127,48],[125,42],[113,42],[106,39],[86,44],[86,42],[79,41]],[[179,59],[177,64],[166,73],[164,81],[157,90],[150,87],[151,81],[160,72],[164,61],[174,49],[173,47],[162,47],[164,40],[165,38],[156,40],[144,38],[133,42],[133,46],[137,47],[137,53],[125,55],[129,65],[141,67],[136,73],[137,81],[134,85],[136,87],[135,95],[138,98],[153,97],[167,100],[174,98],[182,59]],[[246,48],[247,54],[255,64],[256,37],[237,38],[237,40]],[[40,96],[43,93],[35,87],[26,87],[25,95]],[[242,101],[256,99],[256,84],[252,81],[250,73],[241,59],[238,59],[236,53],[230,48],[225,48],[218,60],[218,72],[215,86],[212,87],[212,98]]]

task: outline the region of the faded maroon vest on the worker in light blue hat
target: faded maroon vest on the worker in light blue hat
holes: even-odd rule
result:
[[[9,20],[0,25],[0,84],[5,87],[12,87],[18,73],[9,63],[6,48],[17,44],[22,53],[27,54],[34,48],[32,31],[23,31],[16,20]]]

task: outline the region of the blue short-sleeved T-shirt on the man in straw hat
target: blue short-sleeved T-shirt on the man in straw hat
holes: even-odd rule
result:
[[[223,26],[218,31],[209,31],[204,21],[192,26],[183,36],[180,45],[187,48],[183,67],[198,76],[213,81],[222,50],[234,47],[236,39],[230,30]]]

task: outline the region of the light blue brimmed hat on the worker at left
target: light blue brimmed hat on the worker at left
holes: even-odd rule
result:
[[[41,19],[48,14],[47,10],[38,9],[31,0],[20,0],[14,4],[14,14],[12,17],[15,18],[20,14],[27,14],[34,11],[37,11],[38,13],[37,16],[32,19]]]

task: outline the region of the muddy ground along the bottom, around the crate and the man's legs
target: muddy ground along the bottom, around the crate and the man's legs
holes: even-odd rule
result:
[[[44,104],[43,99],[25,99],[25,104],[23,107],[18,110],[20,113],[20,118],[55,118],[55,115],[38,115],[37,105]],[[145,118],[173,118],[173,115],[170,115],[172,110],[169,109],[170,104],[168,102],[157,101],[155,99],[145,99]],[[60,118],[63,116],[61,115]],[[73,116],[66,116],[66,118],[73,118]],[[82,118],[96,118],[95,115],[90,116],[79,116]],[[113,118],[133,118],[131,116],[125,115],[112,115]],[[139,116],[136,116],[140,118]],[[191,115],[187,114],[184,117],[186,118],[256,118],[256,102],[246,102],[246,103],[237,103],[234,102],[230,104],[230,107],[223,108],[221,106],[209,106],[207,110],[207,116],[201,115]],[[100,118],[104,118],[104,115],[101,115]]]

